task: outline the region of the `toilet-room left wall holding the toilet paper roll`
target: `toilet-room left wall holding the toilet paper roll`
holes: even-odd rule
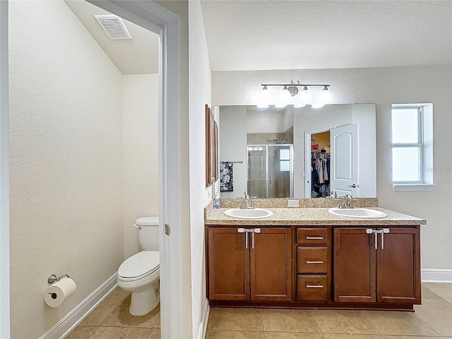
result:
[[[37,338],[124,258],[121,73],[64,1],[11,1],[11,337]],[[77,291],[44,304],[47,278]]]

